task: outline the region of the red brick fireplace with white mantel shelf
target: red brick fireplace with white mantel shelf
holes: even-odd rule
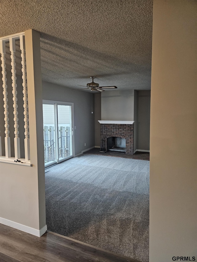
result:
[[[99,120],[101,124],[101,143],[103,152],[119,151],[133,154],[134,121]]]

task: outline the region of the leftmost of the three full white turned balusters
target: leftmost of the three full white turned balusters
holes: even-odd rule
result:
[[[0,52],[1,52],[1,61],[2,61],[2,81],[3,81],[3,101],[4,101],[4,121],[5,121],[5,154],[6,158],[11,157],[11,149],[10,149],[10,136],[9,136],[9,118],[8,118],[8,98],[7,98],[7,78],[6,78],[6,43],[5,41],[0,41]]]

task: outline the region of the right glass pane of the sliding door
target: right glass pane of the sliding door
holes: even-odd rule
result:
[[[58,105],[58,159],[72,155],[71,106]]]

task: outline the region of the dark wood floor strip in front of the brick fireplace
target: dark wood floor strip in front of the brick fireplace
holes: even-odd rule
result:
[[[100,148],[92,148],[89,151],[84,152],[83,154],[97,154],[97,155],[105,155],[105,156],[115,156],[122,158],[130,158],[130,159],[139,159],[139,160],[150,160],[150,153],[148,152],[135,152],[135,154],[125,154],[123,152],[117,151],[107,151],[106,153],[99,152]]]

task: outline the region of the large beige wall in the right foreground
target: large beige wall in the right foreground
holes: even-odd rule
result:
[[[196,1],[153,2],[150,262],[197,259],[196,14]]]

